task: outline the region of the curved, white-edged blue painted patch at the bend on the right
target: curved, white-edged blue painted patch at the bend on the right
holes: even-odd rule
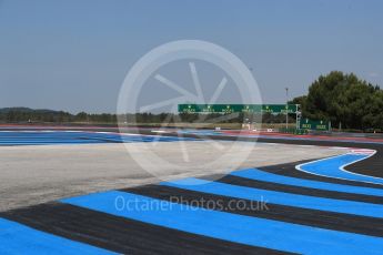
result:
[[[299,165],[298,169],[300,167],[301,170],[305,172],[319,174],[323,176],[329,176],[329,177],[345,178],[345,180],[351,180],[351,181],[356,181],[356,182],[383,184],[383,178],[357,175],[357,174],[341,170],[343,165],[352,164],[353,162],[361,161],[366,157],[369,157],[369,155],[349,153],[349,154],[344,154],[340,156],[324,159],[316,162],[305,163],[305,164]]]

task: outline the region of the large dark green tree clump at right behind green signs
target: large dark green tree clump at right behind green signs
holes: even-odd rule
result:
[[[295,98],[302,115],[330,120],[335,128],[383,130],[383,90],[355,74],[333,71],[321,75],[309,88],[309,94]]]

